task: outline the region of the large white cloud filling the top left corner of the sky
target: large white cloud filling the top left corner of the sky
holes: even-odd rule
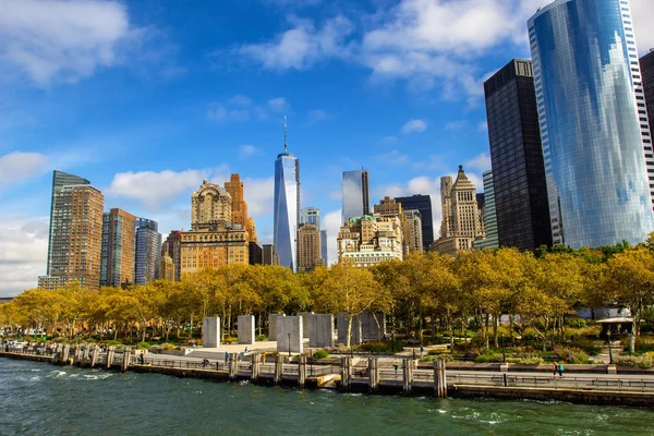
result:
[[[0,64],[47,87],[76,82],[118,62],[132,34],[124,4],[96,0],[3,0]]]

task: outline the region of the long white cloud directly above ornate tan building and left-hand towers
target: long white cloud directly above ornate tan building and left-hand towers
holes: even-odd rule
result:
[[[140,202],[149,210],[157,210],[170,204],[181,194],[196,190],[203,180],[222,184],[229,180],[227,167],[214,170],[172,171],[128,171],[113,175],[111,185],[105,190],[109,195]]]

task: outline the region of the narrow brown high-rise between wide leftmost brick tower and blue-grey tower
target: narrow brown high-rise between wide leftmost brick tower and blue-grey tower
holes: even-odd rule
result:
[[[100,286],[134,283],[136,217],[122,209],[102,216]]]

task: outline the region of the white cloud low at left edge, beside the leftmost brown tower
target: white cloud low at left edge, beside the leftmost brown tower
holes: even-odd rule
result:
[[[14,296],[36,288],[37,277],[46,274],[48,218],[2,217],[0,241],[0,296]]]

